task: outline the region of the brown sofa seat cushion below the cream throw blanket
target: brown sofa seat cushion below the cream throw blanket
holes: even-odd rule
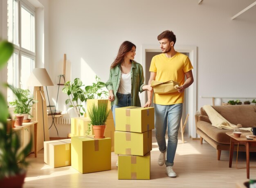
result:
[[[197,127],[201,131],[203,131],[207,136],[209,136],[211,139],[215,140],[216,142],[219,142],[221,144],[230,144],[230,136],[226,134],[226,132],[233,132],[233,129],[227,130],[227,129],[218,129],[214,126],[211,125],[209,122],[205,121],[199,121],[197,122]],[[241,132],[247,132],[248,131],[243,131]]]

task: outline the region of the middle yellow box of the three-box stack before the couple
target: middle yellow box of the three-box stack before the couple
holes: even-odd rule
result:
[[[143,156],[152,150],[152,131],[115,131],[115,154]]]

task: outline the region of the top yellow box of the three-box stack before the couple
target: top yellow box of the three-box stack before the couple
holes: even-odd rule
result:
[[[116,130],[143,133],[155,128],[154,107],[121,107],[116,109]]]

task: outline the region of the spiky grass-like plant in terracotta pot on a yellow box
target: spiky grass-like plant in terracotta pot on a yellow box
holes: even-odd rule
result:
[[[104,131],[109,112],[107,103],[99,103],[98,106],[93,103],[92,108],[89,109],[90,125],[94,130],[95,138],[105,138]],[[90,125],[88,124],[88,126]]]

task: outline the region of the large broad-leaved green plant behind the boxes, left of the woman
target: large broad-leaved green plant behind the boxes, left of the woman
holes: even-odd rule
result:
[[[84,86],[81,79],[76,78],[74,82],[67,81],[62,89],[62,92],[68,95],[65,101],[66,105],[73,107],[78,117],[85,113],[85,104],[87,99],[102,98],[107,96],[107,92],[102,90],[105,83],[96,76],[96,83]]]

